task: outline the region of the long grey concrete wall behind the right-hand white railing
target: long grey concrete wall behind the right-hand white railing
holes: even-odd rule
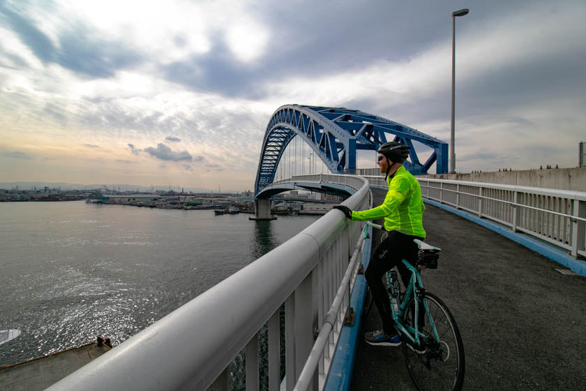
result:
[[[586,191],[586,167],[506,172],[474,172],[469,174],[420,175],[419,177],[511,184],[517,186],[534,186],[558,190]]]

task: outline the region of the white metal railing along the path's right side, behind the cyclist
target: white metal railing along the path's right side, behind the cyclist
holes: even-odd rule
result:
[[[386,187],[384,177],[366,177]],[[586,192],[417,178],[421,195],[586,256]]]

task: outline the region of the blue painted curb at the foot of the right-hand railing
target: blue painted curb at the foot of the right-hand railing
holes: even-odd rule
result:
[[[586,276],[586,262],[584,262],[583,260],[575,259],[569,256],[567,253],[564,253],[564,251],[555,249],[553,246],[540,242],[538,239],[533,239],[532,237],[528,237],[527,235],[523,235],[521,233],[515,233],[510,228],[500,226],[499,224],[493,223],[492,221],[488,221],[486,219],[481,219],[478,216],[474,216],[474,214],[464,212],[454,207],[449,207],[448,205],[441,204],[437,201],[427,200],[426,198],[423,198],[423,202],[426,202],[435,207],[439,207],[453,214],[457,214],[458,216],[463,217],[464,219],[479,224],[479,226],[488,228],[489,230],[492,230],[495,233],[498,233],[500,235],[503,235],[504,237],[513,240],[513,242],[517,242],[518,244],[521,244],[527,247],[528,249],[535,251],[536,253],[540,253],[542,256],[545,256],[550,260],[559,263],[560,265],[569,267],[576,273]]]

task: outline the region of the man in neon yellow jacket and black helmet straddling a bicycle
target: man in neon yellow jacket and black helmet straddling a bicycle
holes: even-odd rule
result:
[[[394,327],[391,304],[382,283],[382,276],[393,267],[397,267],[406,285],[410,279],[410,272],[402,260],[416,258],[418,247],[413,239],[423,240],[426,237],[426,231],[423,230],[425,206],[421,199],[421,188],[417,179],[403,167],[403,161],[409,156],[409,149],[409,146],[399,142],[386,142],[377,151],[377,164],[380,172],[386,174],[385,179],[389,184],[389,191],[382,205],[363,211],[352,211],[345,205],[334,207],[352,221],[369,221],[384,217],[384,230],[387,232],[370,257],[364,274],[382,319],[382,330],[364,334],[366,342],[371,345],[401,344],[400,336]]]

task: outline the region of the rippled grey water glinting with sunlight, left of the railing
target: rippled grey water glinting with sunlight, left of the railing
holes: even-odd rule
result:
[[[0,366],[136,334],[313,223],[85,202],[0,204]]]

